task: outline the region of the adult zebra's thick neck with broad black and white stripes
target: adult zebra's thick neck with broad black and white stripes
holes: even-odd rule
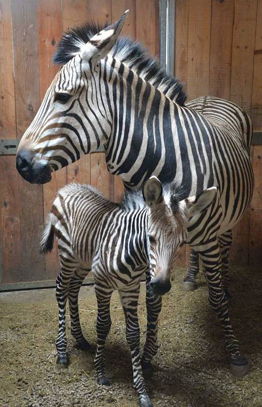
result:
[[[145,178],[160,175],[166,153],[171,152],[172,168],[166,180],[173,181],[175,145],[179,146],[174,117],[180,107],[119,61],[106,60],[101,68],[107,72],[101,75],[108,88],[104,103],[112,112],[112,132],[106,143],[109,171],[129,187],[140,187]]]

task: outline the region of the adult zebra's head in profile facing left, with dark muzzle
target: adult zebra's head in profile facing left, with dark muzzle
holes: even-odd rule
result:
[[[19,143],[16,167],[25,180],[35,184],[49,182],[52,171],[107,142],[112,117],[102,101],[101,94],[106,90],[100,89],[99,61],[114,46],[127,14],[128,10],[115,24],[81,44],[80,52],[72,53],[50,84]]]

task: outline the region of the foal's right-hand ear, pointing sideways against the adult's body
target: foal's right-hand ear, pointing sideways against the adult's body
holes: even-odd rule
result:
[[[200,192],[197,196],[190,196],[184,200],[189,217],[199,215],[205,211],[217,196],[217,188],[212,187]],[[183,202],[183,201],[182,201]]]

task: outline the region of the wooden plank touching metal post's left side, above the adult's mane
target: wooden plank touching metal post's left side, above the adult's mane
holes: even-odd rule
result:
[[[159,2],[136,0],[137,40],[152,53],[159,55]]]

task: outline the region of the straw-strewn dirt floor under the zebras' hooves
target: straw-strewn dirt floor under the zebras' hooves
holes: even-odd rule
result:
[[[159,353],[147,389],[155,406],[262,406],[261,268],[231,271],[230,315],[243,354],[251,363],[244,379],[231,376],[223,334],[207,301],[203,275],[198,289],[184,293],[185,270],[176,269],[163,298]],[[145,339],[145,284],[139,306],[141,344]],[[93,355],[77,350],[68,330],[70,366],[56,365],[58,312],[54,289],[0,295],[0,406],[137,407],[132,365],[125,341],[118,293],[112,297],[112,328],[106,343],[111,386],[99,386]],[[68,311],[69,312],[69,311]],[[80,295],[83,332],[95,345],[96,300],[91,286]],[[69,315],[67,316],[69,326]]]

